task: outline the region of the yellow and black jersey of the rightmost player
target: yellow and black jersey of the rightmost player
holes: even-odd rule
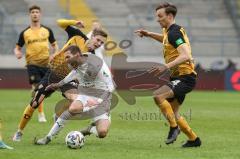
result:
[[[168,30],[163,29],[163,55],[166,63],[175,60],[179,56],[177,47],[184,43],[186,43],[191,50],[190,42],[184,28],[177,24],[172,24]],[[170,71],[172,77],[191,73],[196,74],[193,61],[186,61],[179,64],[171,68]]]

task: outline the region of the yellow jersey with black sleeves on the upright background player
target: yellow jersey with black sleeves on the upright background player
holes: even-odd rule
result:
[[[49,63],[49,43],[56,42],[52,30],[44,25],[40,28],[24,29],[19,36],[17,47],[26,47],[27,65],[47,67]]]

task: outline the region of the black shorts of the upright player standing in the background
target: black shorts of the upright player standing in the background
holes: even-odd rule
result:
[[[47,67],[27,65],[28,79],[30,84],[38,84],[49,70]]]

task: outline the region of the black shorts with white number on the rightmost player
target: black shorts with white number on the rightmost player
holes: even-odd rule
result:
[[[191,92],[196,85],[195,74],[182,75],[179,77],[170,78],[170,82],[167,84],[174,93],[174,98],[169,98],[168,101],[171,102],[177,99],[180,104],[183,103],[187,93]]]

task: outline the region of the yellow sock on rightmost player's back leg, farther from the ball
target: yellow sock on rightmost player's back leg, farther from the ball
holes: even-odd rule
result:
[[[197,135],[192,131],[192,129],[188,125],[187,121],[183,117],[180,117],[177,120],[177,124],[178,124],[179,128],[181,129],[181,131],[184,134],[187,135],[189,140],[193,141],[193,140],[195,140],[197,138]]]

